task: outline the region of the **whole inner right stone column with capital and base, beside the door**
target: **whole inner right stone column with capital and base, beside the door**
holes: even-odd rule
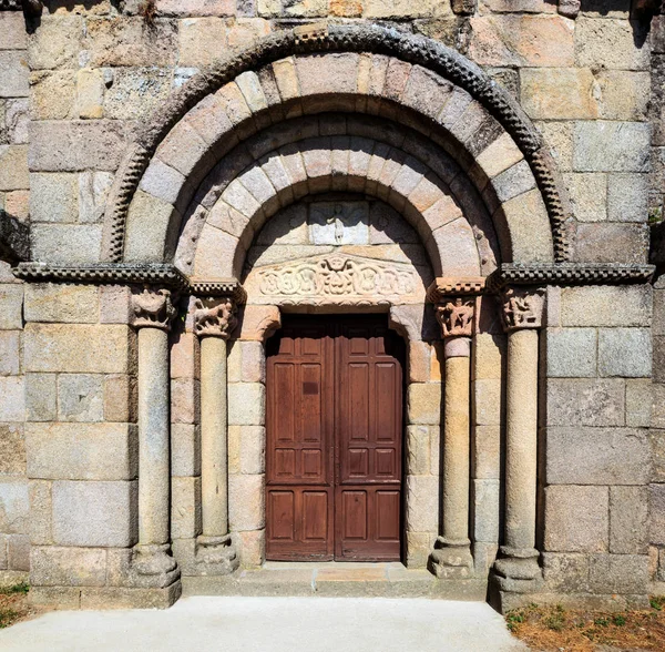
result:
[[[443,334],[443,534],[430,556],[438,578],[467,578],[473,558],[469,539],[470,356],[475,297],[437,305]]]

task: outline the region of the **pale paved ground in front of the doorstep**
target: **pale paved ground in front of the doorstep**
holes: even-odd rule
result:
[[[195,597],[167,611],[60,611],[0,631],[2,652],[520,652],[483,602]]]

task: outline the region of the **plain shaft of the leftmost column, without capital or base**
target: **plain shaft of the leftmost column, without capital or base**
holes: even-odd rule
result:
[[[139,329],[139,542],[170,541],[168,334]]]

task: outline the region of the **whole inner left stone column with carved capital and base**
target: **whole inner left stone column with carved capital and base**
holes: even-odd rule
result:
[[[215,572],[238,567],[228,533],[228,409],[226,342],[236,325],[229,297],[197,299],[194,329],[201,338],[201,497],[203,533],[196,561],[215,564]],[[212,569],[207,568],[207,572]]]

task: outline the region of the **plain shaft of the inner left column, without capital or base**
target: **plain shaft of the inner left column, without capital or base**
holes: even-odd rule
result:
[[[226,340],[201,340],[201,492],[204,537],[228,532]]]

